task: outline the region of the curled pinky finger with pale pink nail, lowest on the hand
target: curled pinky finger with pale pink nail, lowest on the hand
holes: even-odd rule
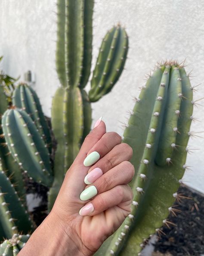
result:
[[[127,212],[128,214],[131,208],[132,199],[133,192],[130,189],[130,186],[118,185],[113,189],[97,195],[92,201],[80,209],[79,214],[81,216],[94,216],[114,206],[118,206],[120,211],[123,211],[124,213]]]

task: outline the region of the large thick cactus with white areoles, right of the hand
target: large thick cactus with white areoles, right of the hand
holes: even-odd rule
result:
[[[142,87],[123,140],[133,148],[136,169],[132,211],[97,256],[140,255],[143,240],[171,224],[167,217],[186,169],[192,94],[184,67],[171,61],[159,64]]]

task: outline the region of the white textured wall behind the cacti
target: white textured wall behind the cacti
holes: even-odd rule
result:
[[[0,0],[0,55],[3,69],[16,77],[27,70],[36,74],[35,89],[43,110],[50,115],[51,96],[59,81],[55,71],[55,0]],[[93,104],[94,121],[103,115],[108,131],[123,133],[127,111],[133,109],[145,74],[155,63],[178,59],[193,69],[192,84],[204,80],[204,1],[201,0],[97,0],[94,13],[95,64],[101,39],[107,29],[120,21],[130,36],[129,59],[114,90]],[[89,86],[87,86],[89,89]],[[198,87],[195,99],[204,96]],[[201,103],[202,104],[202,103]],[[203,103],[204,104],[204,103]],[[195,108],[201,122],[193,131],[204,131],[204,107]],[[201,135],[202,136],[202,135]],[[189,154],[186,184],[204,192],[204,140],[190,141],[196,154]]]

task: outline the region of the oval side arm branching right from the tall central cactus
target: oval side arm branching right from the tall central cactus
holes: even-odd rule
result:
[[[90,101],[95,102],[110,92],[124,68],[128,51],[128,38],[120,25],[105,36],[91,80]]]

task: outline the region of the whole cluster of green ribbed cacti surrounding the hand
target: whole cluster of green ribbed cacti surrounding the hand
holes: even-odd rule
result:
[[[109,93],[127,59],[128,37],[120,24],[105,35],[93,70],[91,89],[84,87],[92,61],[93,0],[57,0],[56,70],[61,86],[52,102],[51,131],[37,94],[26,83],[16,86],[12,106],[0,86],[0,240],[1,255],[16,255],[34,224],[25,204],[25,180],[49,188],[49,211],[65,173],[79,152],[92,122],[91,102]],[[123,141],[133,148],[136,173],[130,183],[132,210],[96,256],[140,255],[143,241],[169,225],[188,153],[193,120],[192,86],[181,64],[158,64],[142,91]],[[54,164],[53,164],[54,161]]]

